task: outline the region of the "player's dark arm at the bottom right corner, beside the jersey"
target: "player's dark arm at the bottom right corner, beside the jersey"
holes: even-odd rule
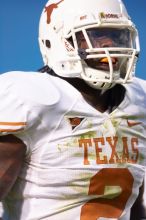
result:
[[[144,183],[140,187],[138,198],[132,206],[130,220],[146,220],[146,207],[143,202],[143,194]]]

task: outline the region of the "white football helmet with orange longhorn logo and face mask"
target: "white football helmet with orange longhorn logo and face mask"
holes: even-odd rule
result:
[[[140,51],[121,0],[49,0],[39,44],[44,64],[57,75],[82,78],[96,89],[130,82]]]

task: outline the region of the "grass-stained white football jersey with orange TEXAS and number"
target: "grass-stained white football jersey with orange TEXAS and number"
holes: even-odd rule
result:
[[[4,220],[129,220],[146,166],[146,82],[101,113],[46,73],[0,76],[0,134],[27,146]]]

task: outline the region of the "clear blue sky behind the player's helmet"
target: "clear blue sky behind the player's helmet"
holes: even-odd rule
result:
[[[136,75],[146,79],[146,0],[123,1],[140,35],[141,54]],[[46,2],[0,0],[0,73],[35,71],[43,65],[38,44],[38,23]]]

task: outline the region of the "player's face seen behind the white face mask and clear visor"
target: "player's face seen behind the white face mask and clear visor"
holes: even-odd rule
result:
[[[90,57],[93,55],[93,58],[87,58],[85,59],[85,62],[89,67],[95,68],[97,70],[99,69],[109,71],[110,69],[105,49],[108,50],[108,48],[110,47],[110,51],[108,52],[111,57],[113,70],[117,71],[120,67],[120,54],[125,53],[128,55],[127,48],[130,49],[131,47],[133,47],[131,41],[132,38],[130,36],[131,33],[128,29],[106,27],[94,28],[87,30],[87,35],[89,38],[88,42],[90,42],[89,45],[81,31],[76,33],[78,50],[84,49],[86,51],[86,57],[88,57],[88,55],[90,55]],[[123,50],[120,50],[120,48],[125,48],[125,51],[123,52]],[[88,52],[88,49],[90,49],[90,52]],[[93,49],[94,51],[92,52]],[[115,55],[114,57],[113,54],[117,55]]]

